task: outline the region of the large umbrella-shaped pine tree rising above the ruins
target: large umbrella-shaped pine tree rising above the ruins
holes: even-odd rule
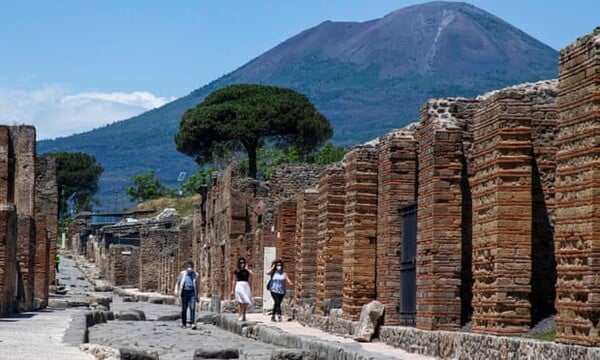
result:
[[[308,98],[291,89],[237,84],[208,95],[183,115],[175,134],[178,151],[203,164],[226,151],[245,150],[248,175],[256,178],[262,140],[292,145],[306,154],[333,135],[329,121]]]

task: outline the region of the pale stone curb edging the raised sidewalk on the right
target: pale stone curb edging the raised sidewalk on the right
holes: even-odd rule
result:
[[[215,325],[234,334],[291,349],[313,352],[317,359],[392,360],[382,354],[365,351],[359,344],[324,341],[317,337],[295,335],[277,327],[252,321],[241,322],[235,315],[215,314]]]

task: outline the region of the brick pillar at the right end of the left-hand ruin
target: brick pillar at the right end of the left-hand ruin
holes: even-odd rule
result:
[[[35,162],[35,297],[48,302],[48,285],[54,281],[58,231],[56,161],[38,157]]]

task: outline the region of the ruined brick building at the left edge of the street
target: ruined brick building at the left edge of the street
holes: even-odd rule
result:
[[[37,157],[35,128],[0,126],[0,316],[48,303],[55,279],[56,164]]]

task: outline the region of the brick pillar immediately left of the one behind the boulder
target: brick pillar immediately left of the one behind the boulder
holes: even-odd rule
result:
[[[317,314],[329,315],[324,303],[341,302],[344,291],[344,168],[330,165],[319,178],[317,241]],[[331,304],[330,304],[331,305]],[[329,306],[330,307],[330,306]]]

